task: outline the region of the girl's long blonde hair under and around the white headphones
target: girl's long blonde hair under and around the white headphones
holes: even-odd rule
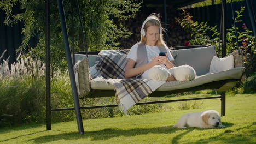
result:
[[[143,29],[144,31],[147,33],[147,28],[150,27],[150,26],[158,26],[159,28],[162,28],[161,26],[161,23],[160,23],[160,20],[159,20],[159,15],[158,14],[151,14],[150,16],[147,17],[147,19],[149,17],[153,17],[154,19],[152,20],[149,20],[145,23]],[[162,28],[163,29],[163,28]],[[146,35],[143,36],[141,35],[141,41],[139,41],[140,43],[145,43],[146,44],[146,41],[147,41],[147,38],[146,38]],[[158,38],[158,41],[156,41],[156,45],[158,45],[158,47],[167,47],[166,44],[165,44],[165,41],[164,41],[164,38],[163,38],[163,35],[162,33],[159,33],[159,38]]]

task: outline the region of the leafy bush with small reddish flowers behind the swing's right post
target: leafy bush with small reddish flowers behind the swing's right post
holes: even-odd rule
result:
[[[236,22],[242,22],[240,18],[243,16],[242,13],[245,11],[245,7],[241,7],[240,11],[236,11],[237,16],[235,17]],[[181,25],[185,31],[187,31],[191,40],[189,43],[191,45],[215,45],[219,47],[219,32],[217,31],[217,26],[211,27],[207,26],[207,22],[195,22],[192,20],[191,16],[187,11],[183,10],[181,18],[176,18],[176,22]],[[229,54],[238,48],[243,50],[244,62],[246,67],[246,74],[253,75],[256,71],[256,49],[255,49],[255,37],[251,35],[252,31],[246,27],[246,24],[242,25],[242,29],[239,27],[237,29],[238,44],[236,42],[236,32],[235,27],[227,29],[226,33],[226,54]],[[208,34],[211,34],[211,37]],[[238,45],[238,47],[237,47]],[[216,50],[218,51],[218,49]],[[221,55],[221,51],[219,52]]]

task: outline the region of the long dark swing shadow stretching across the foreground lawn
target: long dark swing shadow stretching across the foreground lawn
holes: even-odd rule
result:
[[[224,123],[227,127],[231,127],[232,123]],[[190,133],[190,131],[193,131],[194,129],[199,130],[207,130],[207,129],[201,129],[201,128],[188,128],[186,131],[176,137],[174,137],[173,142],[176,143],[179,139],[182,139],[182,136]],[[132,137],[136,135],[146,135],[149,133],[152,134],[171,134],[176,133],[177,128],[170,127],[156,127],[156,128],[135,128],[135,129],[114,129],[114,128],[108,128],[103,130],[96,130],[96,131],[85,131],[84,135],[79,135],[78,132],[72,132],[72,133],[62,133],[57,135],[47,135],[38,137],[36,139],[30,139],[29,141],[34,141],[35,143],[47,143],[47,142],[54,142],[58,140],[78,140],[78,139],[84,139],[84,138],[90,138],[92,141],[97,140],[108,140],[113,137],[119,137],[119,136],[125,136],[125,137]],[[182,129],[183,130],[183,129]]]

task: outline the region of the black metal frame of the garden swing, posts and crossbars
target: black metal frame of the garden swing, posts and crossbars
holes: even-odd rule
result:
[[[53,111],[62,111],[62,110],[75,110],[75,116],[77,118],[77,124],[78,124],[78,131],[79,134],[84,134],[84,127],[82,122],[82,116],[81,116],[81,109],[95,109],[95,108],[102,108],[102,107],[116,107],[118,105],[103,105],[103,106],[88,106],[88,107],[80,107],[79,105],[79,99],[78,99],[78,92],[77,92],[77,86],[75,85],[75,79],[74,79],[74,69],[73,69],[73,62],[71,57],[71,49],[69,46],[69,40],[68,40],[68,33],[67,33],[67,26],[66,26],[66,18],[65,18],[65,11],[63,8],[63,2],[62,0],[57,0],[57,4],[59,7],[59,13],[60,13],[60,19],[61,19],[61,27],[62,27],[62,33],[63,33],[63,39],[65,43],[65,50],[66,50],[66,58],[68,62],[68,71],[69,76],[71,80],[71,86],[72,86],[72,95],[74,100],[74,107],[72,108],[59,108],[59,109],[51,109],[51,100],[50,100],[50,0],[45,1],[45,52],[46,52],[46,129],[51,130],[51,112]],[[77,8],[78,8],[78,2],[76,1]],[[165,6],[166,7],[166,6]],[[79,16],[79,8],[77,9]],[[225,30],[225,17],[226,17],[226,0],[222,0],[222,15],[221,15],[221,26],[220,26],[220,39],[222,39],[222,57],[226,56],[226,43],[225,43],[225,37],[226,37],[226,30]],[[80,19],[80,17],[79,17]],[[82,22],[80,21],[80,25],[82,25]],[[83,35],[84,37],[84,35]],[[193,47],[193,46],[192,46]],[[89,52],[90,53],[90,52]],[[88,52],[86,51],[86,55],[88,55]],[[224,81],[217,81],[219,82],[229,82],[234,80],[224,80]],[[209,86],[214,85],[214,83],[208,83]],[[206,86],[207,87],[207,86]],[[188,91],[195,91],[205,89],[205,87],[193,87],[188,89],[183,89],[183,91],[177,91],[175,93],[181,93],[181,92],[188,92]],[[99,91],[100,93],[105,93],[106,91]],[[113,92],[111,92],[113,93]],[[168,93],[163,92],[156,92],[158,94],[162,95],[168,95]],[[97,94],[97,93],[94,93]],[[152,101],[152,102],[144,102],[144,103],[138,103],[137,105],[143,105],[143,104],[155,104],[155,103],[168,103],[168,102],[175,102],[175,101],[187,101],[187,100],[200,100],[200,99],[216,99],[220,98],[221,100],[221,115],[225,116],[225,92],[222,92],[220,96],[214,96],[214,97],[202,97],[202,98],[189,98],[189,99],[177,99],[177,100],[163,100],[163,101]]]

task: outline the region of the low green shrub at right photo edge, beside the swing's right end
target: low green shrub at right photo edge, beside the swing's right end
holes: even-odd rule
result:
[[[243,93],[256,93],[256,75],[248,77],[243,86]]]

